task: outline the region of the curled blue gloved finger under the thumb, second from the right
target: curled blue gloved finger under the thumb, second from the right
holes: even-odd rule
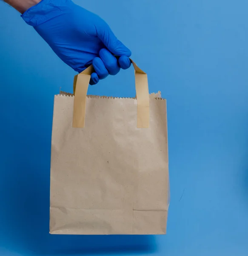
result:
[[[100,49],[99,56],[108,70],[109,75],[114,76],[120,71],[117,58],[110,51],[104,48]]]

